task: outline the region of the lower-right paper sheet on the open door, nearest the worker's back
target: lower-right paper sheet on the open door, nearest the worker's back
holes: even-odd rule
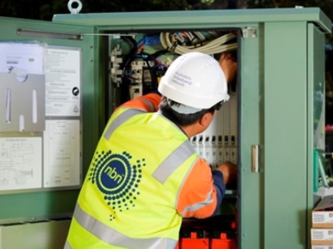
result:
[[[80,121],[47,120],[44,187],[80,185]]]

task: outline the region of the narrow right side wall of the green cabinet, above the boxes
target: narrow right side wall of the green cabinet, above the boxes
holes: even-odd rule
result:
[[[328,190],[321,178],[324,172],[325,152],[325,36],[315,25],[308,24],[308,246],[310,248],[311,209],[319,196]],[[327,172],[327,171],[326,171]],[[321,180],[320,180],[321,179]],[[325,186],[323,186],[325,185]],[[321,187],[322,186],[322,187]],[[321,188],[320,188],[321,187]]]

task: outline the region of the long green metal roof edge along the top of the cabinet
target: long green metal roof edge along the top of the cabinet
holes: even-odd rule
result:
[[[56,14],[53,22],[66,24],[155,29],[160,25],[166,28],[211,27],[216,24],[227,24],[228,27],[251,22],[300,21],[316,22],[326,31],[330,31],[330,20],[319,8],[283,8],[283,9],[240,9],[240,10],[188,10],[159,12],[123,12],[123,13],[89,13],[89,14]]]

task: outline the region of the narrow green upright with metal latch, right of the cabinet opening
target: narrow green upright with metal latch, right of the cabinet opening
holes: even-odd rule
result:
[[[263,248],[263,173],[252,172],[252,145],[263,144],[263,26],[256,38],[241,39],[239,248]],[[263,149],[260,146],[260,151]],[[260,162],[259,165],[262,165]]]

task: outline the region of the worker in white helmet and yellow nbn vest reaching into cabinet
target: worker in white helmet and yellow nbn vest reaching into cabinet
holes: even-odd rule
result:
[[[228,56],[219,63],[199,52],[180,55],[158,93],[113,112],[79,193],[66,249],[173,249],[182,218],[217,212],[236,166],[226,162],[212,172],[190,138],[229,99],[235,64]]]

